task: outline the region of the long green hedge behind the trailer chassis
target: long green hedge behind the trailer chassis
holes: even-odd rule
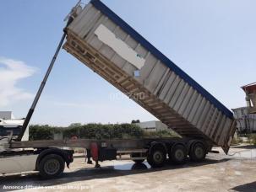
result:
[[[30,140],[51,140],[54,133],[63,133],[65,139],[128,139],[178,136],[174,131],[143,131],[135,124],[87,124],[68,127],[30,125]]]

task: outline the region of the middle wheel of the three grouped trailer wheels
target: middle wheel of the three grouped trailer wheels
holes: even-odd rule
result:
[[[177,144],[174,147],[171,147],[171,149],[168,152],[168,156],[172,163],[175,164],[184,164],[187,160],[187,149],[186,147]]]

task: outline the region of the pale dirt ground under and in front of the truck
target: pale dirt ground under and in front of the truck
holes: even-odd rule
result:
[[[60,179],[41,180],[37,173],[1,176],[0,191],[256,191],[256,148],[231,147],[229,153],[210,153],[204,163],[164,168],[131,161],[104,162],[94,168],[77,157]]]

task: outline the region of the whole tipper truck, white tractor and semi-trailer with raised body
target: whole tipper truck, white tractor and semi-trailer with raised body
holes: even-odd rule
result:
[[[66,51],[182,138],[20,141],[65,38],[63,48]],[[105,160],[132,159],[142,163],[147,159],[151,167],[159,168],[166,163],[166,158],[181,164],[186,162],[188,156],[199,162],[204,160],[213,146],[222,147],[227,153],[235,130],[236,123],[229,109],[105,4],[92,0],[84,8],[78,3],[68,15],[64,35],[21,134],[16,141],[9,139],[0,145],[0,173],[14,173],[11,163],[23,158],[19,169],[16,169],[19,172],[31,169],[48,178],[56,177],[63,173],[65,162],[69,164],[73,161],[73,151],[62,147],[87,149],[88,156],[95,160],[96,165]],[[25,151],[20,152],[20,149]]]

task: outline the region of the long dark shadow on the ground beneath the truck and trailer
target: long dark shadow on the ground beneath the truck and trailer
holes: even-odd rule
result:
[[[167,163],[164,168],[150,168],[148,163],[125,163],[117,166],[106,166],[102,168],[80,168],[74,172],[63,173],[61,178],[41,179],[38,173],[29,173],[25,175],[11,175],[0,177],[0,190],[4,185],[8,186],[53,186],[56,184],[68,184],[70,182],[85,181],[90,179],[104,179],[118,176],[132,175],[138,173],[152,173],[161,170],[172,170],[177,168],[191,168],[207,164],[224,163],[231,158],[221,160],[205,159],[203,163],[188,162],[185,165],[172,165]],[[5,189],[14,190],[14,189]]]

